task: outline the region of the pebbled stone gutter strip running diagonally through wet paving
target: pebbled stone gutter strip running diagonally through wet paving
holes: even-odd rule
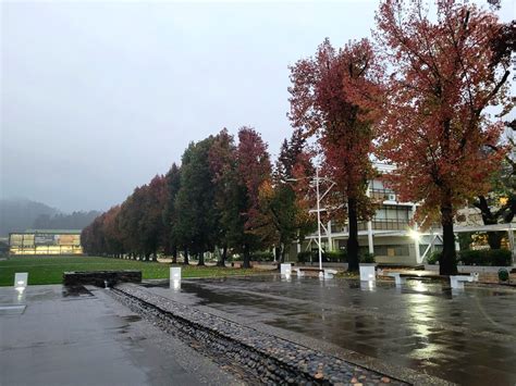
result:
[[[218,349],[270,384],[404,385],[406,383],[355,365],[290,340],[261,333],[226,319],[121,284],[118,294],[140,302],[155,316],[167,317],[182,333]],[[160,315],[158,315],[158,314]]]

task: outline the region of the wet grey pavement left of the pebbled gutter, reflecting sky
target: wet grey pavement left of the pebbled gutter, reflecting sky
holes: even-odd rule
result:
[[[105,291],[0,288],[0,385],[237,383]]]

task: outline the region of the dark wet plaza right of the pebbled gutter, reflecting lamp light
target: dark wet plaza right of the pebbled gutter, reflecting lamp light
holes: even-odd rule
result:
[[[151,286],[207,306],[323,339],[347,350],[459,384],[516,384],[516,291],[409,281],[402,288],[357,281],[274,277]]]

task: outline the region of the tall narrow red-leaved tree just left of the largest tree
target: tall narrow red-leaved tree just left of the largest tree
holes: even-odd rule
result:
[[[358,270],[358,221],[369,219],[373,210],[366,191],[374,175],[370,153],[378,109],[370,99],[380,94],[379,70],[367,39],[340,50],[327,39],[314,58],[291,67],[288,116],[306,136],[318,136],[324,174],[336,184],[332,197],[345,201],[345,211],[333,216],[347,217],[349,271]]]

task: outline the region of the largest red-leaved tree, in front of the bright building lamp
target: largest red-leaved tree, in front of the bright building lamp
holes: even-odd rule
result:
[[[489,189],[500,165],[502,123],[486,108],[508,104],[509,62],[493,45],[503,24],[475,4],[383,1],[378,45],[390,63],[380,154],[396,165],[390,176],[403,201],[421,202],[417,219],[443,228],[440,273],[457,272],[455,210]],[[486,151],[490,147],[495,151]]]

